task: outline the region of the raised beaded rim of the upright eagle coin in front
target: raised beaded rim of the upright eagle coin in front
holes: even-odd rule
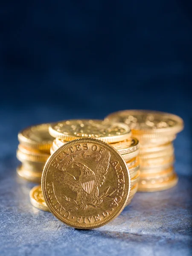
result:
[[[107,148],[109,151],[113,151],[114,155],[117,155],[117,159],[118,157],[122,160],[122,163],[124,164],[125,167],[125,177],[127,177],[127,182],[125,179],[125,188],[124,188],[124,192],[127,193],[127,195],[125,196],[125,200],[123,203],[120,203],[120,209],[117,210],[115,212],[113,212],[112,215],[110,215],[110,217],[108,217],[107,219],[105,219],[105,221],[100,221],[99,224],[87,224],[86,226],[83,226],[82,224],[76,224],[73,222],[67,222],[66,220],[62,220],[61,218],[58,217],[58,215],[55,214],[55,212],[52,210],[52,205],[49,205],[49,201],[47,201],[47,191],[46,191],[46,177],[47,177],[47,170],[51,164],[51,159],[54,157],[55,159],[55,155],[59,154],[60,151],[62,151],[63,148],[67,148],[68,145],[74,145],[76,143],[96,143],[97,145],[102,145],[104,146],[104,148]],[[128,184],[126,184],[128,183]],[[44,201],[47,204],[47,207],[49,208],[49,211],[61,222],[63,222],[64,224],[67,224],[70,227],[74,227],[74,228],[78,228],[78,229],[92,229],[92,228],[96,228],[96,227],[101,227],[105,224],[107,224],[108,222],[112,221],[114,218],[116,218],[121,212],[122,210],[125,208],[126,203],[128,201],[129,195],[130,195],[130,190],[131,190],[131,177],[130,177],[130,172],[128,169],[128,166],[125,162],[125,160],[122,158],[121,154],[119,154],[119,152],[113,148],[110,144],[105,143],[104,141],[101,140],[97,140],[97,139],[93,139],[93,138],[81,138],[81,139],[76,139],[76,140],[72,140],[66,144],[64,144],[63,146],[61,146],[60,148],[58,148],[58,150],[56,150],[47,160],[45,166],[44,166],[44,171],[42,173],[42,177],[41,177],[41,190],[42,190],[42,194],[44,197]],[[125,194],[124,194],[125,195]],[[123,195],[123,196],[124,196]],[[118,208],[119,208],[118,207]]]

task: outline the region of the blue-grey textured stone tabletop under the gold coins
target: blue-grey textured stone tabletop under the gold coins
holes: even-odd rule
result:
[[[38,108],[28,119],[20,113],[12,119],[8,112],[1,113],[6,126],[0,126],[0,255],[190,255],[192,178],[190,154],[186,154],[190,152],[187,129],[175,141],[175,168],[180,177],[176,187],[137,193],[130,206],[109,224],[95,230],[76,230],[33,207],[29,191],[34,184],[16,175],[18,130],[29,125],[29,119],[44,122],[49,115],[61,119],[63,113],[55,111],[56,116]]]

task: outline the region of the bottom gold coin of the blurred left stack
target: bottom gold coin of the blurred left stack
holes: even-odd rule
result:
[[[32,172],[23,168],[22,165],[17,167],[17,175],[25,180],[35,183],[41,183],[42,172]]]

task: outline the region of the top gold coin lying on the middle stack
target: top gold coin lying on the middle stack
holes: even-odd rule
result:
[[[86,137],[114,143],[131,137],[131,130],[127,125],[96,119],[73,119],[53,123],[49,126],[49,133],[67,141]]]

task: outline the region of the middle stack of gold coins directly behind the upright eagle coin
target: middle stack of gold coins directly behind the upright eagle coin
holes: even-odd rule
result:
[[[126,133],[123,135],[124,130]],[[67,120],[51,124],[49,133],[55,137],[50,149],[51,154],[68,141],[81,137],[103,140],[113,146],[122,155],[130,171],[131,192],[127,205],[130,204],[138,189],[140,165],[137,157],[139,141],[131,137],[131,131],[127,125],[111,124],[102,120]]]

